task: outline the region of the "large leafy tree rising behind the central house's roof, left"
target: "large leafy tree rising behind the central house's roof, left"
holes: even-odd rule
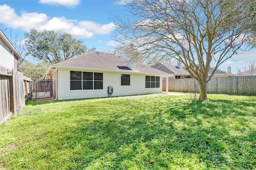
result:
[[[32,55],[40,61],[51,64],[81,55],[87,50],[86,45],[83,45],[81,40],[76,40],[68,33],[48,30],[38,32],[32,29],[25,34],[25,38],[27,55]],[[95,48],[90,50],[95,50]]]

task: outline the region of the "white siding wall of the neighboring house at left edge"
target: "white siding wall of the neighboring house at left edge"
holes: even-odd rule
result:
[[[2,40],[0,40],[0,65],[14,69],[14,53],[10,53],[10,49]]]

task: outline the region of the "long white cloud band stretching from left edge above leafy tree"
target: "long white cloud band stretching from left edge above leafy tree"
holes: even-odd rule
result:
[[[96,34],[110,34],[115,29],[112,22],[98,24],[93,21],[69,20],[64,16],[50,18],[46,14],[36,12],[23,12],[21,16],[18,16],[14,9],[6,4],[0,6],[0,14],[2,24],[23,31],[30,31],[32,28],[38,31],[46,29],[67,32],[77,38],[93,38]]]

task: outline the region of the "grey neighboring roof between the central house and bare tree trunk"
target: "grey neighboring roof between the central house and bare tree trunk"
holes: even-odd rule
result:
[[[167,63],[158,63],[152,67],[172,75],[190,75],[188,71]]]

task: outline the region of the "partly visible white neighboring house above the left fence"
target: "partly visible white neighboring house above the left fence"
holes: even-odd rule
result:
[[[10,72],[12,69],[18,71],[19,58],[21,56],[18,51],[10,43],[8,38],[6,38],[2,30],[0,30],[0,65],[8,68]]]

